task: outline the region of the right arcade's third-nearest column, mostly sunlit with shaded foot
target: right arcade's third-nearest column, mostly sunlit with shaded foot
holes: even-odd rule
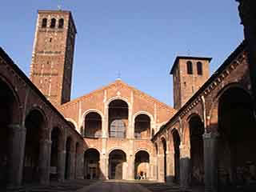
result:
[[[168,184],[174,182],[174,152],[166,151],[166,182]]]

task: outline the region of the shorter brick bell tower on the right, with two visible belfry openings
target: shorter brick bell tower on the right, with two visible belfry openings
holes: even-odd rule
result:
[[[179,110],[209,78],[212,58],[178,56],[170,74],[174,82],[174,109]]]

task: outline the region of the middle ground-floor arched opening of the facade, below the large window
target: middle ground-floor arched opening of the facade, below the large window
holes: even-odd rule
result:
[[[126,153],[122,150],[113,150],[109,154],[109,178],[126,179]]]

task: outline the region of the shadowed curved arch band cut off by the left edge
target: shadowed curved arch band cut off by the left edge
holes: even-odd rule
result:
[[[20,106],[22,106],[21,99],[20,99],[17,91],[15,90],[14,85],[11,82],[9,82],[6,77],[4,77],[2,75],[0,75],[0,81],[2,81],[4,84],[6,84],[7,88],[10,90],[11,94],[14,97],[14,103],[13,103],[14,106],[13,107],[15,108],[15,115],[12,115],[11,123],[21,124],[22,122],[25,122],[25,118],[24,118],[24,120],[22,119],[22,110],[21,110],[22,108],[20,107]]]

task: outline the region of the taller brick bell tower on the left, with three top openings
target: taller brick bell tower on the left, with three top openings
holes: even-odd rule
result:
[[[30,80],[54,106],[70,101],[76,33],[70,11],[38,10]]]

